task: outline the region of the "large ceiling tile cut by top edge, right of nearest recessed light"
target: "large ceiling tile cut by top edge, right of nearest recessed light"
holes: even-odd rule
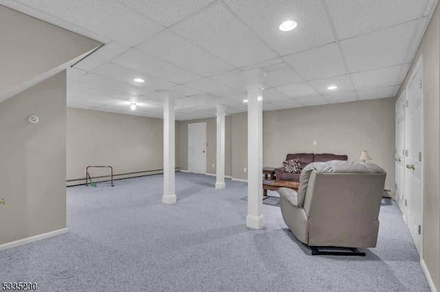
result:
[[[419,18],[426,0],[327,0],[339,39]]]

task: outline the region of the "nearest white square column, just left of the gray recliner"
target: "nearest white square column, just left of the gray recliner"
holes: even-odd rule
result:
[[[265,72],[252,69],[243,74],[248,77],[248,216],[246,226],[260,229],[263,215],[263,89]]]

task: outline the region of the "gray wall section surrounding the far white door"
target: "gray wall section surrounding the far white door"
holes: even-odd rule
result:
[[[176,133],[179,134],[179,144],[176,146],[177,156],[179,156],[178,166],[183,170],[188,170],[188,125],[190,123],[206,123],[206,173],[216,173],[217,160],[217,119],[197,119],[190,121],[177,122]],[[231,145],[232,145],[232,118],[225,117],[225,175],[232,175],[231,170]],[[176,162],[177,165],[177,162]]]

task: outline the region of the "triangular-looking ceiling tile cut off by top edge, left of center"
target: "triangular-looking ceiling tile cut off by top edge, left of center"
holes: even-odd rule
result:
[[[166,27],[201,10],[212,1],[214,0],[179,0],[179,5],[176,5],[175,0],[122,0],[126,5]]]

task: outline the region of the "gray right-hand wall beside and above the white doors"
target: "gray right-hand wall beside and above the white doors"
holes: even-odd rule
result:
[[[437,6],[410,73],[423,55],[423,260],[440,291],[440,8]],[[408,84],[408,76],[401,91]]]

